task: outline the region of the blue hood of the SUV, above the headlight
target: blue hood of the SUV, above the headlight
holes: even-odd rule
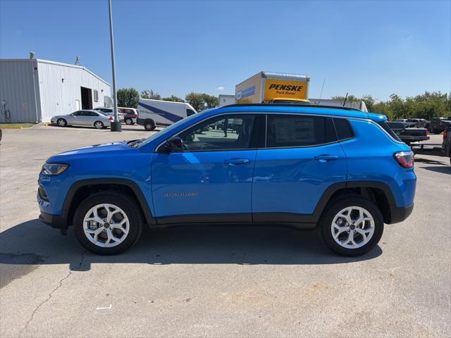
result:
[[[94,144],[93,146],[85,146],[83,148],[65,151],[61,154],[51,156],[47,163],[67,163],[76,158],[98,157],[98,156],[118,156],[124,152],[137,151],[131,148],[125,142],[113,142],[105,144]]]

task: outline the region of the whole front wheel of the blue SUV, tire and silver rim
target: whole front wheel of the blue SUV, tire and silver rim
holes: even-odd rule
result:
[[[137,242],[142,232],[140,210],[118,192],[99,192],[78,206],[73,218],[75,237],[99,255],[121,253]]]

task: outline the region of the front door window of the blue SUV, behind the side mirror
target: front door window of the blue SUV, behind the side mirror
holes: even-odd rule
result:
[[[212,118],[179,134],[187,151],[247,149],[254,127],[254,115]]]

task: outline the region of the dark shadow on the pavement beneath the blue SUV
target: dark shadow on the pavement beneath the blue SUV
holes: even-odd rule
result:
[[[90,270],[92,263],[339,264],[369,260],[382,253],[376,246],[364,256],[337,256],[321,243],[316,231],[277,226],[187,225],[146,229],[128,251],[97,256],[78,244],[71,229],[67,236],[61,236],[58,230],[37,219],[1,232],[0,247],[2,266],[69,264],[71,270],[78,271]]]

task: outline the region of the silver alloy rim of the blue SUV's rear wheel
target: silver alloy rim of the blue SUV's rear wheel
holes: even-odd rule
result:
[[[330,231],[340,246],[346,249],[361,248],[373,237],[374,218],[361,206],[349,206],[335,215]]]

